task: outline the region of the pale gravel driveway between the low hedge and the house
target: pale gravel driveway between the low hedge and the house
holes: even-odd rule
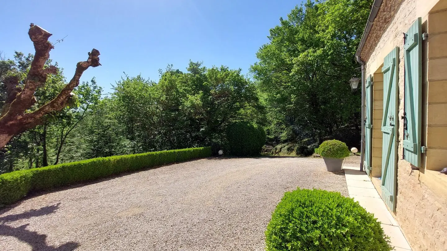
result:
[[[272,211],[296,187],[348,195],[343,172],[322,159],[198,159],[2,209],[0,250],[264,250]]]

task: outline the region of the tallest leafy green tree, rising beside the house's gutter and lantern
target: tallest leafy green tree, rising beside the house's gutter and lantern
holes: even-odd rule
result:
[[[308,0],[270,29],[251,70],[268,110],[271,139],[323,141],[359,135],[360,93],[347,82],[371,0]],[[359,136],[358,136],[359,137]]]

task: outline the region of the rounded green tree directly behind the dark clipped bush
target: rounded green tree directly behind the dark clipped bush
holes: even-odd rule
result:
[[[186,73],[171,69],[164,72],[156,85],[157,100],[165,100],[163,117],[169,119],[172,131],[178,132],[178,137],[169,138],[173,142],[169,148],[219,147],[225,141],[229,124],[258,115],[256,89],[240,71],[224,66],[206,68],[200,62],[190,62]]]

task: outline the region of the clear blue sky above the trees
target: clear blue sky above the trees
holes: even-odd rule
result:
[[[30,23],[53,34],[50,58],[71,79],[76,63],[95,48],[101,67],[89,68],[104,88],[127,75],[157,81],[168,64],[185,71],[189,60],[226,65],[248,73],[256,52],[268,42],[269,29],[279,24],[300,1],[295,0],[46,0],[4,1],[0,50],[34,53],[27,31]]]

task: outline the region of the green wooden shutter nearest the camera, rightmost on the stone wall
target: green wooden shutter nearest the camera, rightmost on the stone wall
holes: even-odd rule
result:
[[[419,17],[405,33],[405,110],[404,159],[421,166],[422,134],[422,18]]]

